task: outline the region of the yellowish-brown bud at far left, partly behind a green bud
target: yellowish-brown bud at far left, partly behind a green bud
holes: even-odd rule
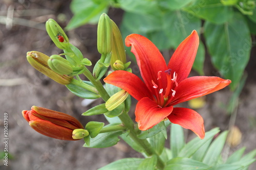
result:
[[[60,75],[57,72],[53,71],[47,63],[49,59],[49,56],[40,52],[32,51],[27,53],[27,60],[35,69],[59,84],[70,84],[73,77],[67,75]]]

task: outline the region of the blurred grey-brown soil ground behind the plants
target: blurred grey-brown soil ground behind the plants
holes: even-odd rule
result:
[[[12,155],[8,166],[0,162],[1,169],[27,170],[27,169],[88,169],[94,170],[115,160],[125,157],[142,157],[133,151],[123,141],[105,149],[83,148],[83,141],[62,141],[43,136],[29,127],[22,116],[22,110],[30,110],[31,106],[40,106],[60,112],[68,113],[86,124],[91,120],[105,122],[103,116],[81,116],[81,113],[91,106],[81,105],[82,99],[73,95],[65,86],[57,84],[48,77],[40,74],[29,65],[26,59],[28,51],[39,51],[47,55],[60,54],[48,37],[45,22],[49,18],[60,18],[65,14],[67,20],[61,22],[65,27],[72,17],[69,9],[70,1],[11,1],[0,2],[0,152],[3,143],[4,113],[8,113],[9,143],[8,151]],[[14,11],[13,11],[14,10]],[[13,22],[5,21],[4,16],[17,18]],[[111,9],[110,17],[120,23],[121,11]],[[26,19],[26,20],[21,20]],[[3,23],[5,22],[5,24]],[[34,25],[34,22],[39,24]],[[16,23],[16,24],[15,24]],[[92,25],[82,26],[68,32],[70,41],[95,63],[99,54],[96,48],[97,27]],[[255,41],[255,39],[254,39]],[[237,109],[236,125],[242,132],[241,143],[230,150],[225,150],[224,155],[246,147],[246,153],[256,148],[256,49],[252,50],[251,60],[246,68],[248,79],[242,91]],[[212,74],[213,68],[209,59],[205,62],[205,73]],[[207,95],[207,104],[197,111],[203,116],[206,131],[213,127],[220,127],[222,131],[229,128],[230,116],[225,113],[225,105],[231,93],[228,88]],[[135,102],[135,101],[134,101]],[[187,107],[187,104],[185,104]],[[133,112],[131,116],[134,117]],[[187,132],[187,131],[186,131]],[[188,139],[195,137],[188,132]],[[256,169],[256,164],[250,169]]]

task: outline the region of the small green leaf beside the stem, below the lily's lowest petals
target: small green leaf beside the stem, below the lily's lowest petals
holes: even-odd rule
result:
[[[164,143],[165,143],[165,137],[164,137],[163,133],[158,133],[158,134],[150,137],[149,139],[150,139],[150,143],[151,143],[152,147],[154,148],[154,150],[156,151],[156,153],[158,155],[161,155],[161,153],[163,152]]]

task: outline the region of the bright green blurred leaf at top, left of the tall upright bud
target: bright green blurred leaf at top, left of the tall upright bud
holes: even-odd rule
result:
[[[66,27],[67,30],[71,30],[77,27],[80,27],[91,19],[99,16],[106,11],[108,8],[108,1],[102,1],[100,4],[94,4],[91,1],[73,1],[74,4],[71,4],[71,9],[74,12],[74,16],[71,18],[68,26]],[[98,20],[97,20],[98,21]]]

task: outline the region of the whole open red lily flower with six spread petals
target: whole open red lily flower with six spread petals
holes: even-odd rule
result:
[[[136,122],[140,130],[147,130],[166,117],[170,122],[195,132],[204,138],[202,116],[187,108],[174,105],[220,90],[231,83],[219,77],[188,77],[199,45],[194,30],[173,54],[168,65],[158,48],[147,38],[131,34],[125,39],[132,46],[143,81],[131,72],[117,70],[104,79],[130,93],[138,103],[135,109]]]

